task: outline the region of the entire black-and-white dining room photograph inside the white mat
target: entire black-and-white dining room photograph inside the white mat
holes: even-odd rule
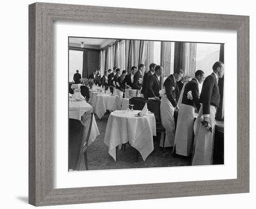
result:
[[[224,65],[222,43],[68,37],[68,171],[224,164],[223,75],[213,124],[201,101],[215,65]],[[193,122],[183,125],[185,106]],[[212,150],[209,162],[193,164],[200,117]]]

